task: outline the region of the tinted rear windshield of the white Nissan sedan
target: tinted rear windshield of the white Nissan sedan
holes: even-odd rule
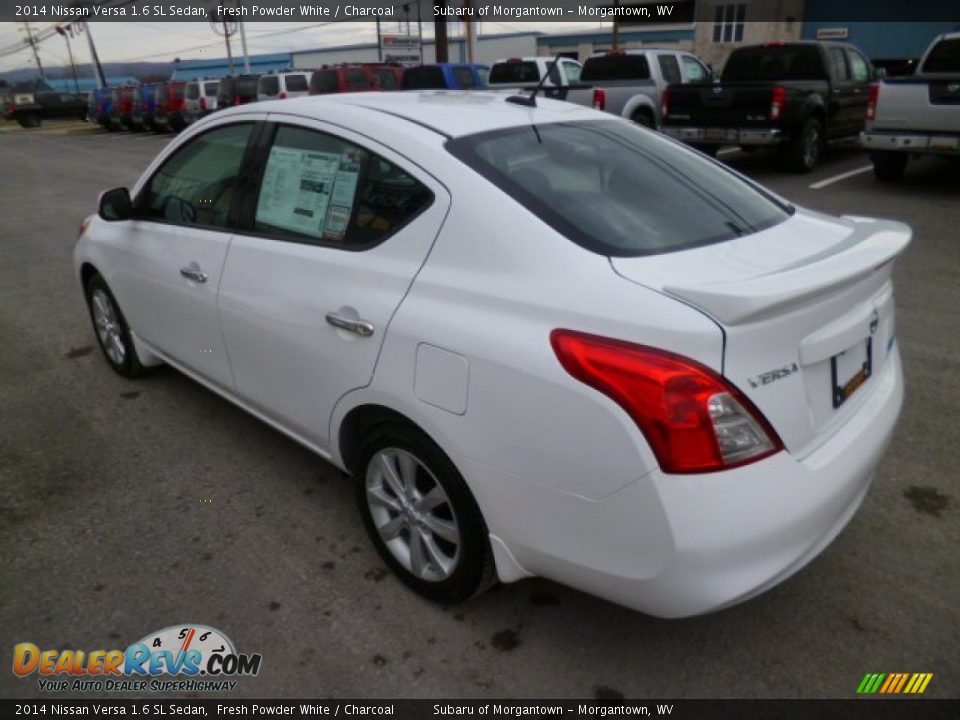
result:
[[[601,255],[656,255],[783,222],[791,209],[722,165],[620,120],[525,125],[447,149]]]

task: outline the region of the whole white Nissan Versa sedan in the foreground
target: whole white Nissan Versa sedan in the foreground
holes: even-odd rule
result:
[[[860,505],[909,240],[572,104],[364,93],[198,122],[75,260],[117,372],[169,363],[346,470],[419,593],[541,575],[679,617]]]

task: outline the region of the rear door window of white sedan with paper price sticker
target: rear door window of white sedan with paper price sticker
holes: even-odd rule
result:
[[[257,198],[255,229],[280,239],[366,248],[433,202],[393,163],[327,133],[280,126]]]

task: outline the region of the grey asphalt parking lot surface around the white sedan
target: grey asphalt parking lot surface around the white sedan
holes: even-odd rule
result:
[[[338,471],[172,370],[114,374],[73,275],[77,226],[171,138],[0,130],[0,648],[204,623],[263,655],[236,697],[848,698],[867,672],[932,672],[928,696],[960,695],[956,164],[886,185],[855,148],[809,175],[721,154],[798,204],[913,227],[895,272],[907,397],[819,559],[746,604],[663,621],[539,579],[428,604],[380,562]],[[0,673],[0,695],[37,694]]]

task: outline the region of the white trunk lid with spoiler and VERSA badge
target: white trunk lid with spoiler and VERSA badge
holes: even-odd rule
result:
[[[798,210],[753,235],[611,263],[723,328],[724,376],[802,457],[863,404],[893,352],[892,261],[910,238],[901,223]]]

